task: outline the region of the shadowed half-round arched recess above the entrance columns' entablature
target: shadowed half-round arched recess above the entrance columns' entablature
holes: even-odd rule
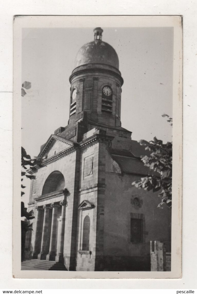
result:
[[[42,195],[48,194],[54,191],[58,191],[65,188],[64,176],[60,171],[53,171],[46,179]]]

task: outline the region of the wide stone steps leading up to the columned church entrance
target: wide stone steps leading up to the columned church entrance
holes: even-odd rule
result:
[[[63,263],[48,260],[29,259],[21,262],[21,270],[67,270]]]

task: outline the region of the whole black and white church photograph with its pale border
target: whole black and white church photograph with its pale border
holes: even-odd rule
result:
[[[15,18],[17,277],[180,277],[181,22]]]

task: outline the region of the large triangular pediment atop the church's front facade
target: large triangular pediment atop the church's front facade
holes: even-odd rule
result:
[[[74,146],[74,142],[64,139],[57,135],[51,135],[47,142],[42,147],[39,157],[51,157],[56,155],[57,153]]]

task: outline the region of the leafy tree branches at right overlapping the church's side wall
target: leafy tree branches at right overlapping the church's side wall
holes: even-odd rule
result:
[[[172,125],[172,118],[168,115],[168,122]],[[141,180],[132,183],[137,188],[142,188],[146,191],[158,192],[161,197],[161,202],[158,207],[164,203],[171,207],[172,203],[172,142],[163,144],[162,140],[156,137],[153,141],[138,141],[140,145],[145,146],[145,150],[150,152],[149,155],[141,156],[145,166],[148,166],[152,174],[141,178]]]

